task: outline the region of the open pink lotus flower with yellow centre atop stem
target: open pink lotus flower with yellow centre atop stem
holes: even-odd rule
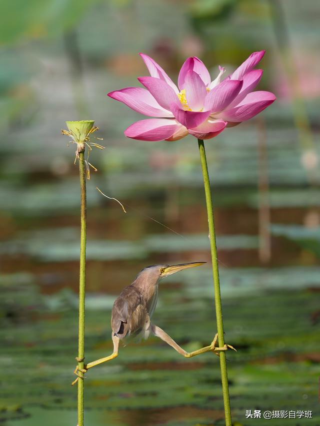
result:
[[[252,53],[231,75],[221,80],[225,69],[211,81],[204,63],[193,56],[184,62],[178,88],[149,56],[140,53],[150,77],[138,77],[145,87],[127,87],[108,93],[134,111],[156,118],[140,120],[124,134],[139,140],[178,140],[187,134],[199,139],[218,135],[227,125],[249,120],[269,106],[271,92],[252,90],[260,81],[262,69],[254,69],[264,50]]]

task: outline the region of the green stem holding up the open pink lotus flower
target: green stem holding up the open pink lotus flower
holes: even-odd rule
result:
[[[208,166],[206,162],[204,142],[202,139],[198,139],[203,183],[205,191],[206,210],[209,224],[209,237],[210,237],[210,248],[211,248],[211,259],[212,259],[212,271],[213,271],[213,284],[214,284],[214,301],[215,301],[215,315],[216,315],[216,326],[218,332],[218,343],[219,347],[224,346],[224,332],[223,332],[223,321],[222,321],[222,305],[220,295],[220,280],[219,280],[219,269],[216,251],[215,241],[215,230],[214,230],[214,218],[213,218],[213,206],[211,197],[210,180],[208,174]],[[223,394],[223,405],[225,415],[225,425],[231,426],[231,409],[230,409],[230,397],[229,397],[229,386],[228,376],[226,370],[226,357],[225,352],[220,352],[220,370],[221,370],[221,382],[222,382],[222,394]]]

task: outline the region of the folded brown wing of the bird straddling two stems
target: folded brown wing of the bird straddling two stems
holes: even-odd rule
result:
[[[147,311],[141,298],[141,293],[134,286],[122,290],[116,298],[111,314],[112,332],[123,339],[141,330]]]

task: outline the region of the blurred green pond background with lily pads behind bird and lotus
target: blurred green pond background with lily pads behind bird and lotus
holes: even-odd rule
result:
[[[112,351],[110,309],[154,263],[208,261],[196,139],[141,142],[139,114],[106,93],[172,79],[187,56],[227,71],[266,49],[277,101],[206,142],[215,204],[233,419],[320,425],[320,56],[317,0],[2,0],[0,424],[76,424],[79,185],[65,120],[95,119],[105,150],[87,182],[86,361]],[[125,203],[102,197],[95,189]],[[158,222],[165,225],[161,226]],[[170,228],[170,229],[168,229]],[[185,349],[215,334],[210,266],[160,286],[154,323]],[[86,425],[223,425],[219,363],[150,338],[87,373]],[[312,419],[245,419],[245,410]]]

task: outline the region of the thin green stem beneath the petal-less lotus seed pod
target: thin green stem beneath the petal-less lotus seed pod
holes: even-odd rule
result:
[[[85,248],[86,248],[86,187],[84,150],[79,152],[79,172],[81,187],[81,236],[79,274],[79,337],[78,337],[78,426],[83,426],[83,359],[84,359],[84,303],[85,303]]]

